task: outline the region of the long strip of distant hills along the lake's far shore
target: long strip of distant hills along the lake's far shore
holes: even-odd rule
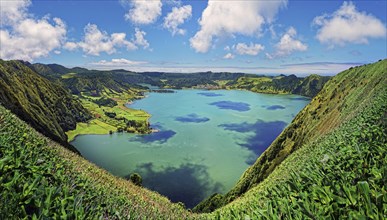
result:
[[[150,84],[161,88],[217,88],[245,89],[258,93],[297,94],[314,97],[330,77],[312,74],[307,77],[295,75],[264,76],[244,73],[198,72],[198,73],[136,73],[127,70],[98,71],[80,67],[66,68],[58,64],[33,64],[40,75],[63,83],[73,94],[81,92],[101,93],[104,89],[122,92]],[[219,85],[223,81],[224,85]]]

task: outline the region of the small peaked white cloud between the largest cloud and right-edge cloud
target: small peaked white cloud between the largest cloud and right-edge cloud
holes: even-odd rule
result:
[[[281,37],[280,41],[275,45],[276,52],[274,54],[266,53],[266,57],[273,59],[276,57],[285,57],[293,52],[306,51],[308,46],[296,39],[297,31],[290,27],[289,30]]]

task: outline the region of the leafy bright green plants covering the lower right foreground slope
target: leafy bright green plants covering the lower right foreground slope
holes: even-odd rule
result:
[[[209,219],[386,219],[387,89]]]

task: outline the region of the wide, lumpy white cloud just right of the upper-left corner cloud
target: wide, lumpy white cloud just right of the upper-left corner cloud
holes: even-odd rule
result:
[[[95,24],[88,24],[84,28],[85,36],[80,42],[67,42],[64,48],[67,50],[82,49],[88,55],[99,56],[100,53],[113,54],[117,47],[125,47],[127,50],[136,50],[137,45],[144,48],[149,46],[149,43],[144,38],[145,32],[136,28],[135,39],[132,41],[126,40],[125,33],[113,33],[109,35],[105,31],[98,29]]]

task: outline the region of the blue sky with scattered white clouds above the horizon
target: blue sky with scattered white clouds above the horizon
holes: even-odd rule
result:
[[[385,0],[0,2],[6,60],[306,75],[387,56]]]

